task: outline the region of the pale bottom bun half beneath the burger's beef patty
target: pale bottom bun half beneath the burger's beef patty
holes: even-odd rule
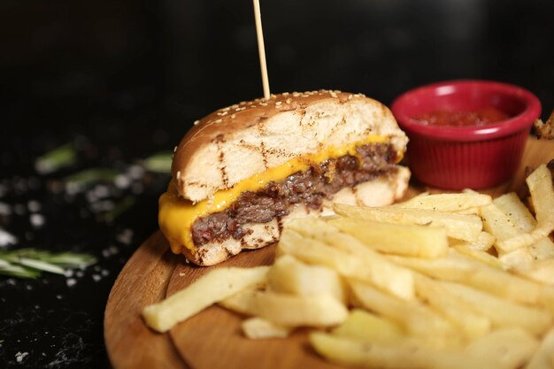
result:
[[[383,174],[373,181],[360,183],[354,188],[342,188],[331,201],[326,200],[320,210],[309,209],[304,204],[297,204],[287,216],[281,219],[273,219],[268,223],[243,225],[242,227],[248,230],[249,234],[240,240],[229,237],[222,242],[214,241],[199,246],[194,254],[186,248],[183,248],[182,253],[196,265],[216,265],[242,250],[260,249],[279,241],[282,227],[292,219],[333,215],[333,203],[359,206],[392,204],[404,196],[409,180],[410,171],[404,166],[398,166],[398,170],[394,173]]]

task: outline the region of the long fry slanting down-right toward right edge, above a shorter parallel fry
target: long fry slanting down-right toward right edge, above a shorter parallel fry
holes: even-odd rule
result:
[[[517,303],[537,304],[542,293],[538,283],[466,258],[454,250],[448,258],[389,258],[430,277],[463,283]]]

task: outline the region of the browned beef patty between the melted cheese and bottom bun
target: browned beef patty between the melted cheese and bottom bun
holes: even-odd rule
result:
[[[396,171],[396,150],[387,143],[370,143],[357,148],[357,155],[328,159],[304,172],[289,175],[279,183],[269,182],[256,192],[244,192],[227,210],[196,219],[192,238],[196,246],[228,237],[241,239],[246,223],[267,223],[289,214],[289,206],[305,204],[319,210],[324,199],[346,187],[371,181]]]

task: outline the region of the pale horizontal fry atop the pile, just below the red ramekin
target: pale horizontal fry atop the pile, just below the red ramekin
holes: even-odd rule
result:
[[[470,211],[470,213],[477,214],[478,212],[476,211],[478,208],[490,204],[491,202],[492,198],[489,195],[480,194],[477,192],[435,195],[424,193],[418,196],[414,196],[410,200],[404,201],[404,203],[399,203],[394,206],[431,211]]]

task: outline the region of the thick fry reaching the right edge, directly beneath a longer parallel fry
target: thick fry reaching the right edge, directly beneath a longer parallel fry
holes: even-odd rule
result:
[[[444,291],[458,302],[490,319],[493,327],[521,327],[531,334],[542,334],[552,318],[539,308],[519,305],[462,284],[440,281]]]

